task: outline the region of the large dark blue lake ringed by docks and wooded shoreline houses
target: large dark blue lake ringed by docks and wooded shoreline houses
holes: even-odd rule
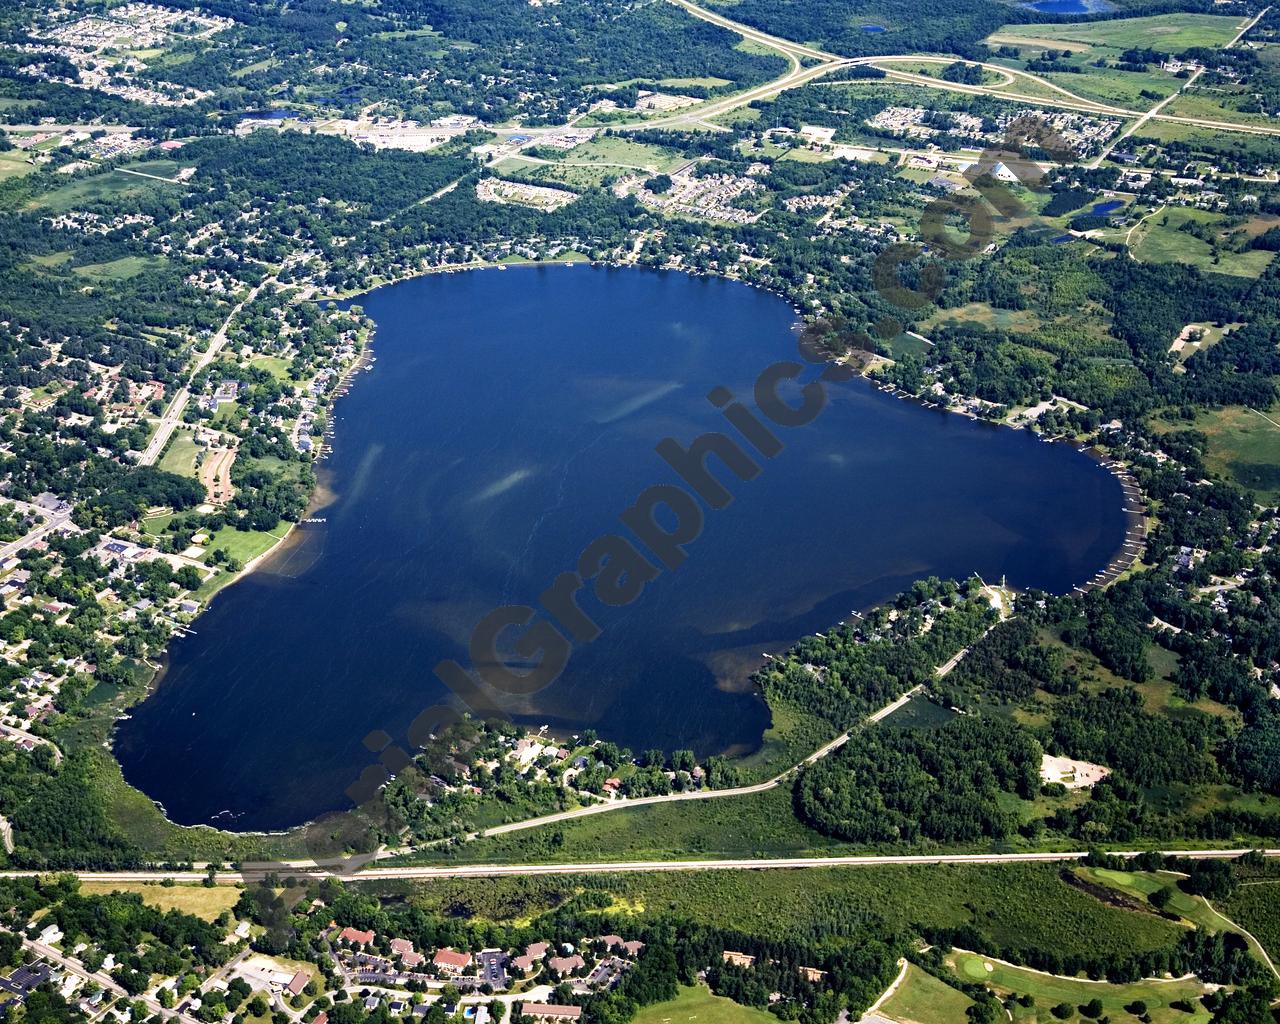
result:
[[[282,828],[343,806],[362,737],[447,698],[431,669],[470,664],[483,616],[538,604],[590,541],[626,534],[637,494],[681,483],[654,445],[733,434],[708,392],[754,407],[756,376],[796,355],[786,303],[681,274],[435,275],[364,305],[378,360],[337,406],[326,522],[220,594],[119,726],[125,777],[177,822]],[[785,448],[754,480],[721,474],[735,500],[682,566],[628,607],[584,595],[603,634],[513,716],[748,751],[768,722],[748,685],[762,652],[929,575],[1065,591],[1120,547],[1120,486],[1070,445],[863,380],[826,388],[814,422],[774,428]]]

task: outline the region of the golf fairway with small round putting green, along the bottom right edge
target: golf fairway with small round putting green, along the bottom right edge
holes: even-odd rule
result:
[[[1174,1020],[1202,1024],[1210,1019],[1208,1011],[1197,1002],[1204,995],[1204,986],[1194,979],[1105,984],[1041,974],[961,950],[952,952],[947,963],[959,977],[968,982],[980,982],[1001,997],[1009,995],[1034,997],[1034,1006],[1014,1007],[1014,1024],[1057,1024],[1057,1018],[1050,1012],[1053,1006],[1066,1002],[1079,1007],[1094,998],[1102,1001],[1103,1012],[1116,1024],[1137,1019],[1138,1015],[1125,1010],[1134,1002],[1146,1004],[1146,1012],[1151,1015],[1152,1024],[1167,1024]],[[1171,1009],[1169,1004],[1176,1000],[1193,1004],[1196,1011],[1187,1014]]]

